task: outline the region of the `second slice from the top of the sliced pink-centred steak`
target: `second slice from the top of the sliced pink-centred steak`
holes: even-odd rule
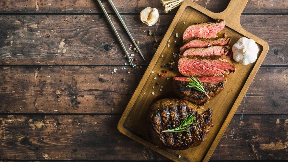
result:
[[[194,39],[180,48],[180,54],[183,54],[189,48],[198,48],[198,47],[209,47],[212,45],[229,45],[231,38],[198,38]]]

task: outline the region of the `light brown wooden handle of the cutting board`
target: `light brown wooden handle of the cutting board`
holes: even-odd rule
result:
[[[240,15],[242,14],[248,0],[230,0],[227,8],[219,13],[219,17],[226,21],[226,24],[240,25]]]

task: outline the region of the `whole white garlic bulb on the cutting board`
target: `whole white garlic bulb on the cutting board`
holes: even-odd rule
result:
[[[236,62],[247,65],[256,61],[259,48],[253,39],[242,37],[233,45],[232,52]]]

